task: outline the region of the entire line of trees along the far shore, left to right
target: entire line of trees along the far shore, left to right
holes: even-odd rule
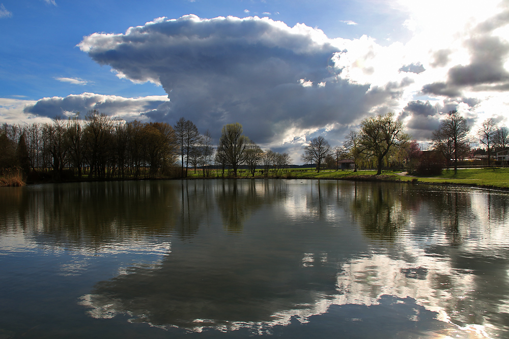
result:
[[[472,143],[487,150],[488,165],[493,151],[509,146],[509,130],[493,119],[483,122],[475,135],[467,120],[450,111],[433,133],[430,149],[404,133],[393,113],[368,117],[359,131],[351,131],[343,145],[331,147],[322,136],[312,139],[301,157],[329,169],[407,168],[417,174],[437,174],[470,155]],[[238,123],[225,125],[214,145],[209,131],[201,134],[192,121],[180,118],[174,126],[166,122],[126,122],[89,111],[68,119],[55,118],[46,124],[9,125],[0,128],[0,176],[17,169],[30,181],[65,180],[77,177],[138,179],[196,175],[237,176],[247,168],[251,176],[281,176],[293,160],[288,153],[263,150],[243,135]],[[348,166],[345,166],[345,164]],[[225,171],[228,170],[228,173]]]

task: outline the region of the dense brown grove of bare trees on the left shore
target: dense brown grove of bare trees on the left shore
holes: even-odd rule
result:
[[[93,110],[84,120],[3,124],[0,168],[20,168],[34,179],[153,177],[171,170],[175,142],[175,131],[165,122],[125,122]]]

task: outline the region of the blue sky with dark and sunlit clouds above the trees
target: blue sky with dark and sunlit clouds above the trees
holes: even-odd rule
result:
[[[509,0],[0,0],[0,32],[0,124],[239,122],[294,163],[386,112],[509,126]]]

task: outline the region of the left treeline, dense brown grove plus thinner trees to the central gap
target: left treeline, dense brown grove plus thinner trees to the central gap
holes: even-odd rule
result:
[[[233,170],[262,164],[265,175],[291,162],[288,154],[262,150],[242,134],[240,124],[225,125],[216,146],[192,121],[126,122],[97,110],[84,119],[55,118],[46,124],[0,128],[0,170],[18,170],[30,181],[44,179],[139,179],[186,177],[189,169],[212,175],[214,167]],[[2,174],[2,173],[0,173]],[[228,175],[228,173],[227,173]]]

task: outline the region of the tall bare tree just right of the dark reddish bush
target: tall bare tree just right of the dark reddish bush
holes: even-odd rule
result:
[[[450,111],[433,132],[433,147],[440,151],[447,162],[454,161],[454,171],[458,170],[458,159],[470,149],[467,120],[458,113]]]

